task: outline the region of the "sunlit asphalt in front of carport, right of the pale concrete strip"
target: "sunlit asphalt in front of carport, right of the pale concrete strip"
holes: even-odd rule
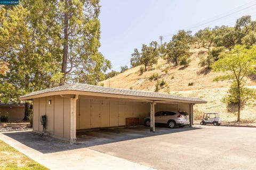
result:
[[[256,128],[198,126],[89,148],[157,169],[254,170],[255,133]]]

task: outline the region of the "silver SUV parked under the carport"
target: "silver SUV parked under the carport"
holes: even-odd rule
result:
[[[183,111],[160,111],[155,113],[155,123],[167,123],[169,128],[175,128],[177,125],[183,128],[185,125],[189,125],[188,113]],[[150,117],[145,118],[145,125],[150,126]]]

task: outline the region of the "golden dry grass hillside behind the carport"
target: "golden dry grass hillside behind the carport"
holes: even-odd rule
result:
[[[221,73],[214,73],[198,66],[199,58],[206,57],[207,50],[192,49],[190,52],[191,63],[187,67],[174,67],[159,58],[158,63],[143,74],[140,73],[140,66],[137,66],[100,83],[106,87],[154,91],[157,80],[164,80],[166,83],[159,92],[199,97],[208,101],[207,104],[196,105],[195,114],[200,115],[206,111],[213,111],[220,113],[225,122],[235,121],[236,110],[234,107],[227,108],[226,104],[221,102],[221,99],[227,94],[230,82],[213,82],[213,79]],[[149,80],[154,73],[158,74],[157,80]],[[193,83],[193,85],[188,86],[189,83]],[[254,85],[256,85],[254,78],[247,78],[246,86]],[[253,104],[245,106],[241,113],[242,120],[253,123],[256,120],[255,109],[256,106]]]

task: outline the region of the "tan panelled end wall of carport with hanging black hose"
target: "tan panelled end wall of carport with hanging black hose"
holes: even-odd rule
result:
[[[49,104],[51,100],[51,104]],[[42,133],[40,117],[46,115],[46,131],[62,140],[70,138],[70,98],[59,95],[33,99],[33,131]]]

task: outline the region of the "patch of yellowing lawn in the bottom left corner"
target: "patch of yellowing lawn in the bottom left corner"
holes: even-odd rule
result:
[[[48,168],[38,164],[3,141],[0,141],[0,169],[45,170]]]

